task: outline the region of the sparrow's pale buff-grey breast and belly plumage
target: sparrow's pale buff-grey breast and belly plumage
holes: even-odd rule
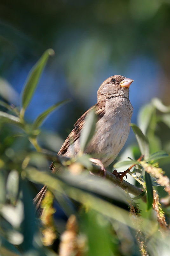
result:
[[[117,108],[108,107],[105,115],[96,124],[87,153],[94,154],[105,167],[112,163],[128,138],[131,117],[132,109],[126,104]]]

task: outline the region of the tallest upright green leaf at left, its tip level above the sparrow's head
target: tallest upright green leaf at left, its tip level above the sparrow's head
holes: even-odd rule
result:
[[[41,73],[43,72],[45,64],[50,55],[54,55],[54,51],[52,49],[46,50],[28,74],[22,93],[22,107],[24,110],[28,107],[31,101],[31,98],[40,79]]]

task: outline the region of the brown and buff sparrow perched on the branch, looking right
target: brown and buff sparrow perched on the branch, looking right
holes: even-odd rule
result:
[[[130,132],[133,106],[129,100],[129,87],[132,82],[133,79],[121,75],[107,78],[98,89],[97,103],[74,124],[74,129],[66,138],[58,155],[69,158],[78,155],[80,135],[85,125],[85,118],[92,109],[95,109],[97,116],[95,132],[84,153],[91,155],[90,161],[99,165],[105,172],[105,168],[119,154]],[[50,169],[55,172],[54,163],[51,164]],[[40,207],[46,190],[47,187],[44,186],[33,200],[37,209]]]

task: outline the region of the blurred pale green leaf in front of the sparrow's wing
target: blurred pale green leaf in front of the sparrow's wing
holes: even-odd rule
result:
[[[92,109],[85,117],[85,124],[80,135],[80,149],[83,152],[95,131],[97,117],[95,109]]]

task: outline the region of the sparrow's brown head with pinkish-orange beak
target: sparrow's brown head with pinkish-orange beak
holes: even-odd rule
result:
[[[129,97],[129,86],[133,79],[124,76],[115,75],[107,78],[99,87],[98,102],[110,99],[116,96]]]

